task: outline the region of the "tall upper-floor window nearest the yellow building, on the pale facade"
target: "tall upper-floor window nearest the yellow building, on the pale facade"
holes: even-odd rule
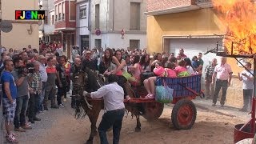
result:
[[[130,30],[140,29],[140,9],[139,2],[130,2]]]

